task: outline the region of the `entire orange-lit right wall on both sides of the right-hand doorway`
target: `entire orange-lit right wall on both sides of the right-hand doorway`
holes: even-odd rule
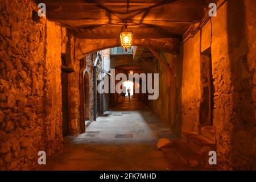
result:
[[[221,1],[220,1],[221,2]],[[219,3],[220,3],[219,2]],[[255,1],[228,1],[181,47],[182,131],[197,131],[200,47],[211,46],[214,85],[213,127],[222,169],[255,169]],[[208,32],[207,34],[205,32]]]

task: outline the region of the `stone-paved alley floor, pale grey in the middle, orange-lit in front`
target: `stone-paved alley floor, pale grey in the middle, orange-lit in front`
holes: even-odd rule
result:
[[[168,170],[166,158],[156,148],[162,137],[173,138],[149,108],[126,98],[38,169]]]

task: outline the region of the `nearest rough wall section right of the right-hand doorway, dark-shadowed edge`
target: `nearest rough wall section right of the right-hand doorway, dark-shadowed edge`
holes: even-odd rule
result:
[[[213,19],[213,125],[224,169],[256,169],[255,7],[227,2]]]

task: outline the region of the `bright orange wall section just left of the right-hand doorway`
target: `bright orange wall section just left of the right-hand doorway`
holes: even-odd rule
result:
[[[200,34],[184,44],[181,82],[181,131],[196,131],[200,104]]]

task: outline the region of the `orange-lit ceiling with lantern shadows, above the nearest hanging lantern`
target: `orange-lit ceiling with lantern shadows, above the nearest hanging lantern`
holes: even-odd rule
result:
[[[76,38],[118,39],[123,24],[134,39],[177,38],[200,22],[209,0],[44,0],[47,18]]]

